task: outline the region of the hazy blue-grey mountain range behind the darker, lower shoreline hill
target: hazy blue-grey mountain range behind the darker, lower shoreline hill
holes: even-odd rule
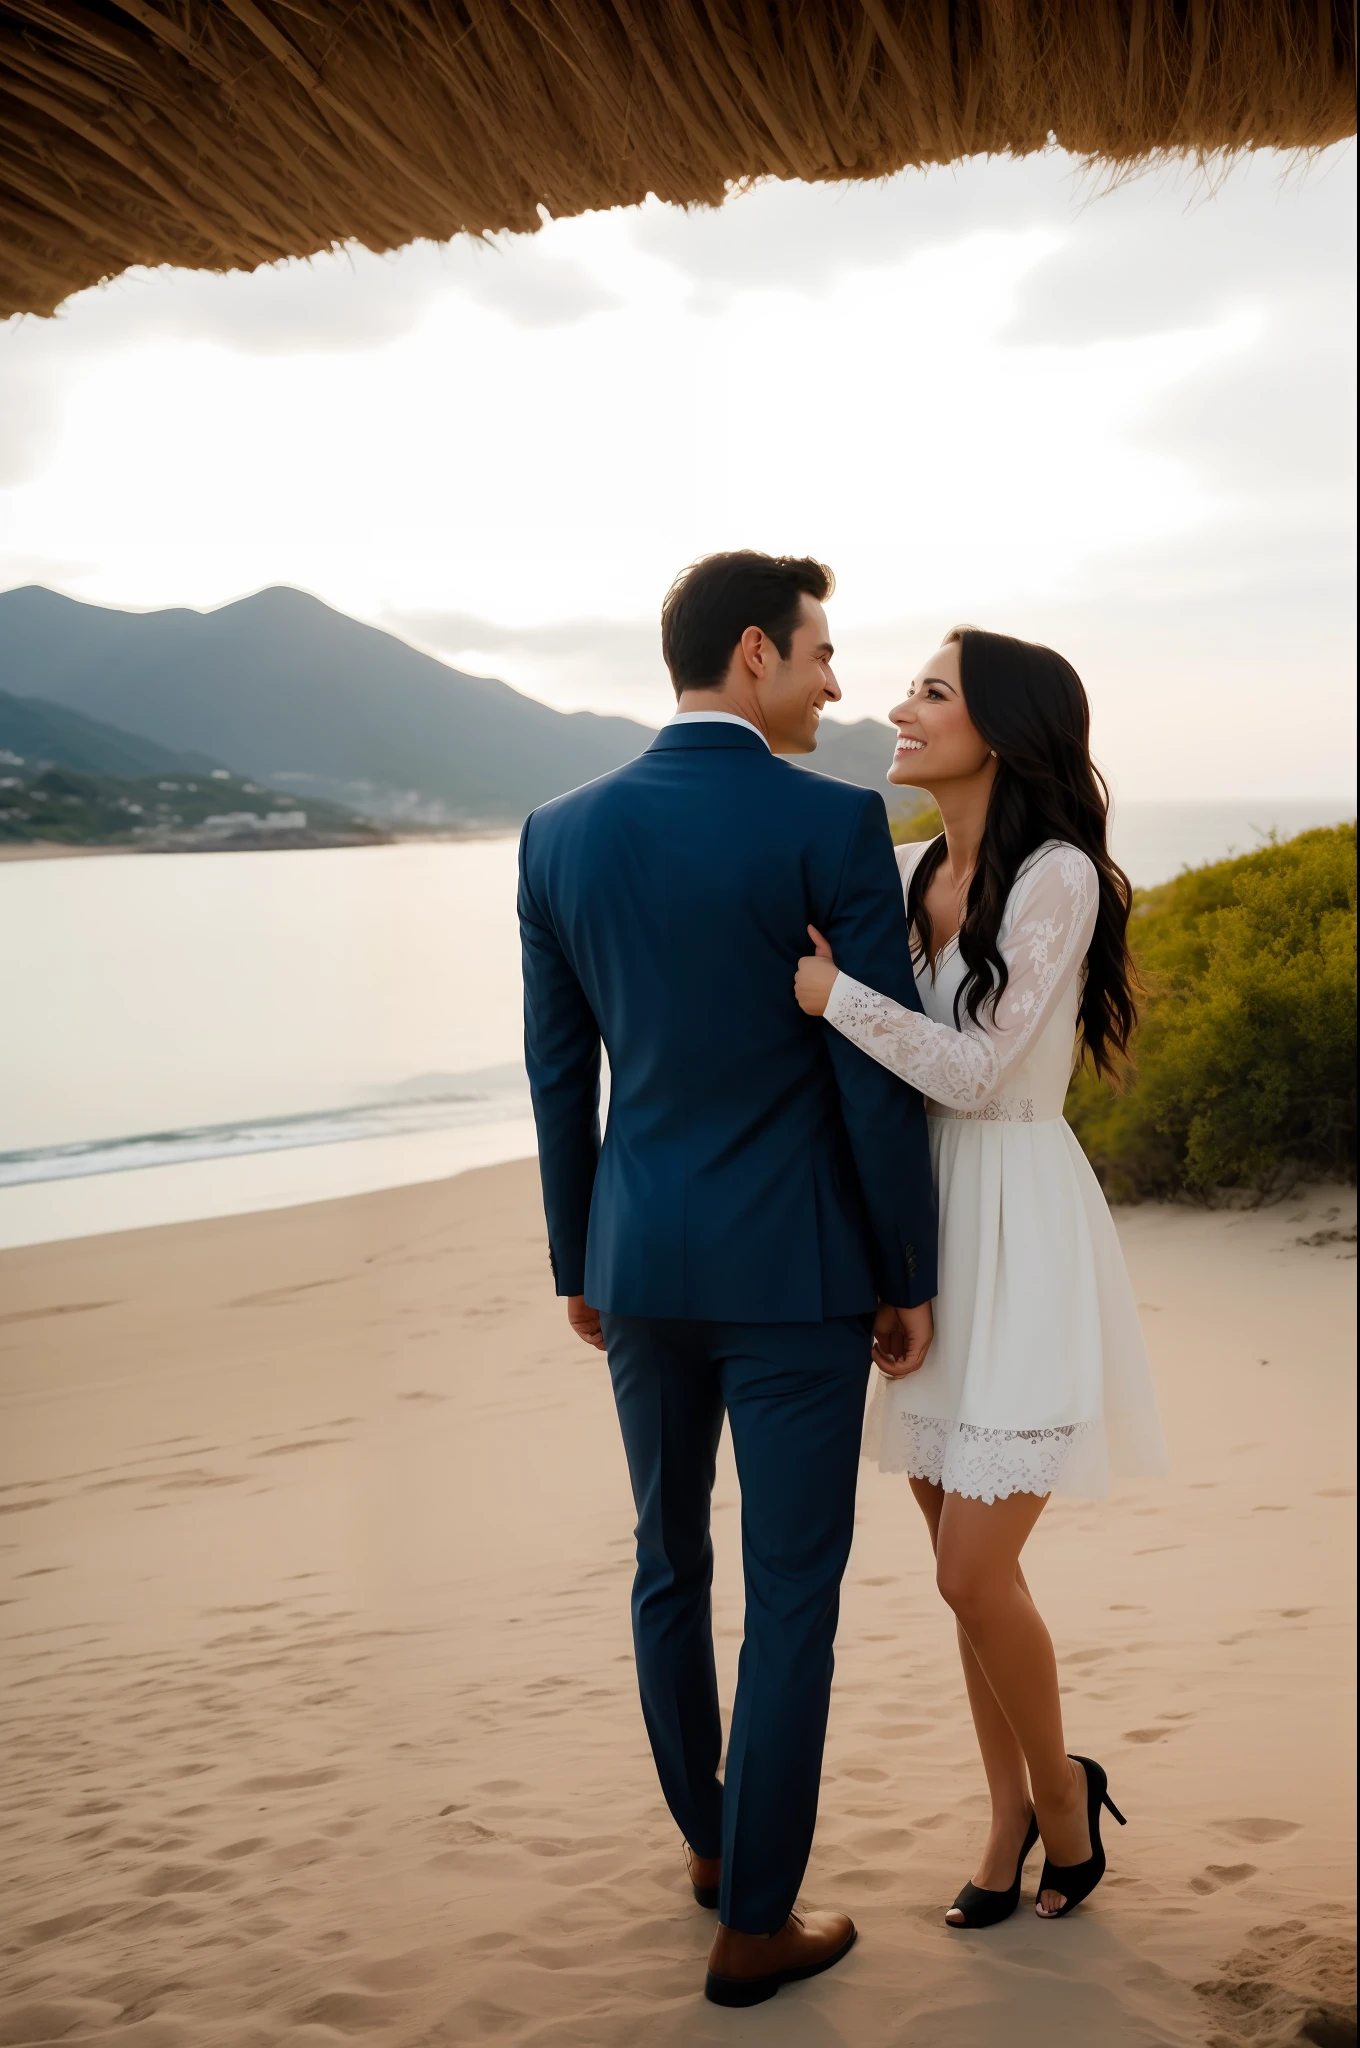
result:
[[[389,823],[518,823],[651,741],[635,719],[551,711],[301,590],[211,612],[8,590],[0,690]],[[883,788],[889,758],[885,725],[827,721],[815,766]]]

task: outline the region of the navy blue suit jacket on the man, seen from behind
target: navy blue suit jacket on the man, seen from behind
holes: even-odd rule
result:
[[[524,1055],[559,1294],[811,1323],[936,1292],[922,1098],[795,1004],[809,924],[920,1010],[881,797],[739,725],[668,725],[526,819]]]

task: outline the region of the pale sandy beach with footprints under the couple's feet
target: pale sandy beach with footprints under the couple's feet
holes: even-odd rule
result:
[[[1174,1477],[1026,1552],[1131,1821],[1073,1921],[1034,1862],[1014,1921],[942,1923],[981,1772],[864,1473],[805,1884],[862,1939],[752,2013],[700,1999],[535,1167],[0,1255],[0,2044],[1354,2042],[1354,1214],[1118,1219]],[[729,1700],[729,1460],[717,1532]]]

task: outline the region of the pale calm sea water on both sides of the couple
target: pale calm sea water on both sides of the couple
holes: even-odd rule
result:
[[[1153,885],[1354,805],[1127,805]],[[0,862],[0,1247],[533,1153],[516,842]]]

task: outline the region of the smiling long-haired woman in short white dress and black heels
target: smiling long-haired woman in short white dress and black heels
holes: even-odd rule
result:
[[[1133,1030],[1131,887],[1061,655],[961,627],[891,719],[889,782],[930,791],[944,821],[897,854],[924,1016],[838,973],[815,930],[797,999],[928,1098],[936,1333],[911,1376],[877,1343],[864,1450],[909,1477],[959,1620],[991,1831],[946,1919],[985,1927],[1016,1911],[1040,1837],[1036,1911],[1079,1905],[1104,1874],[1102,1804],[1116,1812],[1104,1769],[1067,1755],[1020,1550],[1051,1493],[1163,1470],[1114,1225],[1063,1122],[1077,1049],[1108,1073]]]

